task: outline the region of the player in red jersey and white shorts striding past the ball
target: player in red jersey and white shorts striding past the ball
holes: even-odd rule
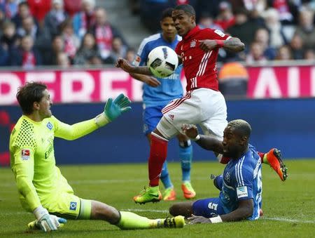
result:
[[[167,143],[170,138],[183,133],[181,131],[183,124],[199,124],[204,134],[222,140],[228,122],[225,99],[218,91],[216,72],[218,50],[219,48],[232,52],[244,50],[244,44],[238,38],[230,37],[218,29],[197,27],[195,10],[188,4],[176,6],[172,18],[178,34],[183,37],[175,51],[186,74],[187,93],[183,98],[172,100],[162,110],[163,117],[151,133],[151,151],[148,158],[150,183],[134,197],[134,201],[139,204],[162,199],[158,185],[162,164],[167,157]],[[128,73],[151,75],[148,67],[134,67],[122,58],[118,59],[116,67]],[[269,157],[272,157],[274,153],[269,154]],[[222,155],[218,155],[218,158],[219,161],[226,160]],[[276,168],[279,168],[279,160],[277,158],[274,160],[277,163]]]

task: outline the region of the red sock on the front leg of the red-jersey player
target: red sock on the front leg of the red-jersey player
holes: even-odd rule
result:
[[[162,166],[167,157],[168,140],[155,133],[151,134],[150,157],[148,159],[149,185],[155,187],[159,185]]]

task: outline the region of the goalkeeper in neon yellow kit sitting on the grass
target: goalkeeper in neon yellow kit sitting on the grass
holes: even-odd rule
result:
[[[105,126],[131,109],[130,100],[120,94],[109,98],[104,112],[72,126],[52,116],[52,101],[45,84],[31,82],[17,94],[22,108],[10,135],[10,163],[18,186],[20,202],[36,220],[29,228],[44,232],[57,230],[66,219],[106,220],[120,229],[183,227],[183,217],[148,219],[135,213],[118,211],[100,201],[81,199],[55,166],[54,138],[76,140]]]

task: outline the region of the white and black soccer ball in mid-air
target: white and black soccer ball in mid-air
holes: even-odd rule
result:
[[[148,54],[146,65],[155,77],[165,78],[174,73],[179,65],[179,58],[172,48],[158,46]]]

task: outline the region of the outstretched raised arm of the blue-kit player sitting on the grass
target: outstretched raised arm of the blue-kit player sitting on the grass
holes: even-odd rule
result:
[[[181,127],[183,133],[185,133],[188,138],[195,140],[195,142],[204,148],[204,150],[211,150],[219,154],[223,154],[222,141],[211,137],[211,135],[199,135],[197,126],[193,124],[183,124]]]

